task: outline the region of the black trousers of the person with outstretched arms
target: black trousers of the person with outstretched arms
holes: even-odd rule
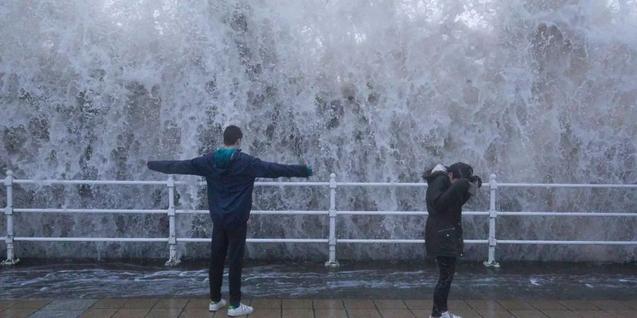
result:
[[[228,254],[230,305],[239,307],[241,302],[241,270],[243,269],[243,252],[246,250],[247,230],[247,223],[236,227],[222,227],[216,224],[212,226],[212,257],[208,279],[210,281],[210,299],[213,302],[222,299],[221,286],[224,280],[226,254]]]

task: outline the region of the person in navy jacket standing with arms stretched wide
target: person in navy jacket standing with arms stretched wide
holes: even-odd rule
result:
[[[210,311],[226,305],[221,287],[226,254],[229,254],[229,316],[250,314],[253,308],[241,304],[241,270],[246,247],[248,219],[252,209],[255,179],[277,177],[309,177],[306,165],[268,163],[241,152],[243,134],[237,126],[224,130],[224,148],[192,160],[149,161],[151,170],[206,178],[208,208],[212,218],[210,261]],[[229,250],[229,253],[228,253]]]

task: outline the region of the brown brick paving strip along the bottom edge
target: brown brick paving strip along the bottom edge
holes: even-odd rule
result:
[[[5,299],[2,318],[212,318],[228,317],[227,308],[209,312],[205,298]],[[427,318],[431,300],[246,299],[248,318]],[[463,318],[636,318],[637,300],[449,300]],[[246,316],[243,316],[246,317]]]

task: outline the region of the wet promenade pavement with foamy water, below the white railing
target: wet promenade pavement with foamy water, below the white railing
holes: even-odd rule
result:
[[[205,266],[26,261],[0,269],[0,317],[227,317],[207,311]],[[464,318],[637,317],[637,264],[467,261],[457,271],[450,309]],[[428,317],[437,278],[427,262],[248,263],[243,272],[250,317]]]

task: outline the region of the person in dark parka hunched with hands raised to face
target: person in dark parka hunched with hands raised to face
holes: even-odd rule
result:
[[[425,248],[436,257],[440,278],[434,290],[431,317],[452,317],[447,311],[449,288],[454,278],[456,259],[462,256],[462,206],[471,197],[470,191],[482,186],[474,169],[466,163],[449,167],[436,165],[423,175],[427,181],[427,223]]]

